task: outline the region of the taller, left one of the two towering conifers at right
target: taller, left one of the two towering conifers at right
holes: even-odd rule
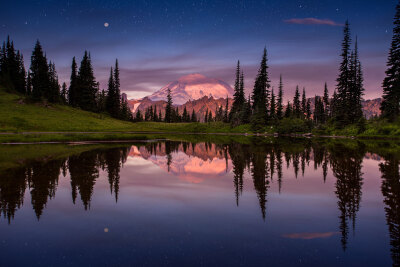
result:
[[[344,30],[343,30],[343,42],[342,42],[342,62],[339,68],[339,77],[337,78],[337,110],[335,114],[335,120],[337,121],[340,127],[343,127],[349,124],[349,116],[351,113],[348,101],[349,95],[349,81],[350,81],[350,45],[351,45],[351,37],[350,37],[350,26],[349,22],[346,21]]]

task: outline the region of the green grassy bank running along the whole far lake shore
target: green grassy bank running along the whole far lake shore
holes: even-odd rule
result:
[[[284,121],[290,130],[294,123],[290,119]],[[400,139],[400,122],[372,120],[368,121],[365,127],[365,131],[360,133],[357,125],[350,125],[344,129],[324,125],[313,129],[312,134],[336,138]],[[260,134],[273,135],[281,128],[282,126],[268,126],[262,129]],[[295,128],[299,132],[286,135],[296,136],[310,132],[304,127]],[[23,95],[0,88],[0,143],[137,140],[138,134],[141,133],[146,136],[142,135],[140,138],[148,138],[154,134],[254,134],[250,124],[231,127],[223,122],[132,123],[66,105],[31,103],[29,98]]]

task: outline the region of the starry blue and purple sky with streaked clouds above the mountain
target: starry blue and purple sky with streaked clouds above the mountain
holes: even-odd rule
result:
[[[322,93],[325,81],[333,92],[342,24],[349,19],[359,40],[365,98],[374,98],[381,95],[397,2],[1,0],[0,40],[9,34],[28,67],[39,39],[67,83],[72,57],[80,61],[85,49],[101,88],[118,58],[121,89],[130,98],[190,73],[232,85],[238,59],[250,92],[266,46],[272,85],[282,74],[287,97],[296,84],[312,96]]]

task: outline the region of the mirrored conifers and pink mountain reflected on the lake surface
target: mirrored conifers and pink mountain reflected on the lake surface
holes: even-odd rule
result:
[[[1,214],[12,223],[18,209],[24,205],[26,191],[38,220],[47,203],[55,198],[60,179],[69,179],[71,198],[79,198],[84,210],[91,200],[100,172],[108,178],[110,194],[115,202],[120,195],[121,171],[127,160],[138,157],[153,163],[182,181],[199,184],[210,178],[230,175],[233,180],[232,201],[240,206],[246,174],[251,177],[263,221],[268,223],[269,191],[277,183],[277,193],[285,194],[285,177],[292,172],[295,179],[304,179],[309,169],[321,170],[321,183],[328,173],[335,178],[337,199],[337,229],[331,232],[285,234],[289,239],[310,240],[340,235],[341,247],[348,248],[349,233],[356,232],[363,191],[363,161],[381,160],[380,155],[368,154],[362,142],[325,144],[310,140],[266,140],[252,138],[244,143],[190,143],[178,141],[148,142],[94,149],[67,158],[38,160],[24,167],[10,169],[0,178]],[[400,266],[400,160],[392,154],[382,155],[382,195],[389,226],[393,266]],[[286,168],[286,170],[285,170]]]

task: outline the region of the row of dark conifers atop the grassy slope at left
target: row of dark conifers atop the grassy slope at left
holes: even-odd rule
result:
[[[108,90],[99,89],[94,76],[90,53],[85,51],[78,69],[72,59],[70,86],[60,86],[56,66],[48,61],[39,41],[31,56],[26,74],[23,56],[7,37],[0,50],[0,84],[9,90],[29,96],[34,101],[68,104],[83,110],[103,113],[122,120],[132,120],[126,99],[121,98],[118,61],[111,73]]]

